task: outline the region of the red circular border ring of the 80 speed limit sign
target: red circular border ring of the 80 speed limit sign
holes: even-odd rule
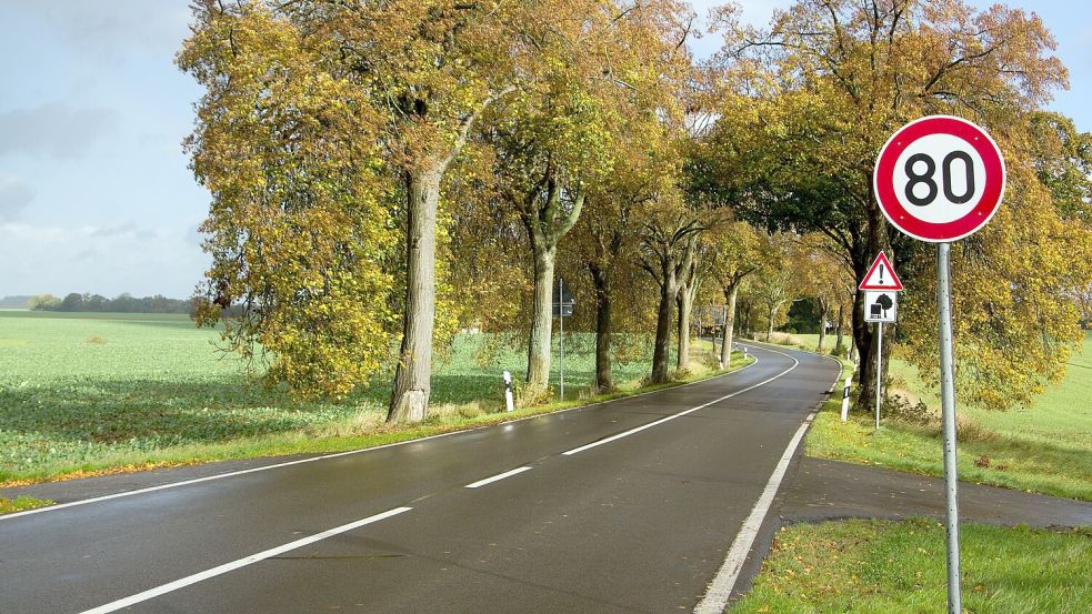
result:
[[[951,222],[934,223],[914,218],[902,207],[894,192],[894,165],[899,157],[918,139],[930,134],[951,134],[966,141],[985,164],[985,191],[981,200],[966,215]],[[881,177],[885,181],[881,182]],[[1004,195],[1005,165],[998,143],[985,130],[962,118],[929,115],[899,129],[880,149],[872,174],[872,189],[888,221],[904,234],[932,243],[958,241],[984,227],[998,212]]]

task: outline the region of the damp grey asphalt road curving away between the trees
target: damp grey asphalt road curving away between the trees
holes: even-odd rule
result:
[[[0,612],[693,611],[839,372],[752,352],[657,393],[0,517]]]

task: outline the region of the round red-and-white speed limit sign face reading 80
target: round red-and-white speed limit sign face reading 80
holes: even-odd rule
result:
[[[872,184],[895,228],[933,243],[956,241],[990,221],[1005,187],[1004,159],[978,125],[950,115],[908,123],[876,159]]]

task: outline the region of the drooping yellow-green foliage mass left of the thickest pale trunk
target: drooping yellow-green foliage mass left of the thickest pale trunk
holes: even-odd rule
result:
[[[204,1],[194,19],[178,62],[206,88],[187,142],[212,193],[198,323],[222,322],[270,381],[343,396],[385,361],[393,320],[380,118],[330,70],[330,40],[290,17]]]

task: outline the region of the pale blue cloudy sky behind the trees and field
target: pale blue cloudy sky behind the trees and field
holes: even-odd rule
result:
[[[692,1],[697,12],[719,2]],[[787,0],[743,1],[769,22]],[[989,2],[975,0],[974,6]],[[1092,131],[1092,8],[1011,0],[1059,41],[1052,108]],[[192,294],[210,197],[182,140],[201,89],[173,63],[189,0],[0,0],[0,296]],[[719,41],[693,41],[698,56]]]

